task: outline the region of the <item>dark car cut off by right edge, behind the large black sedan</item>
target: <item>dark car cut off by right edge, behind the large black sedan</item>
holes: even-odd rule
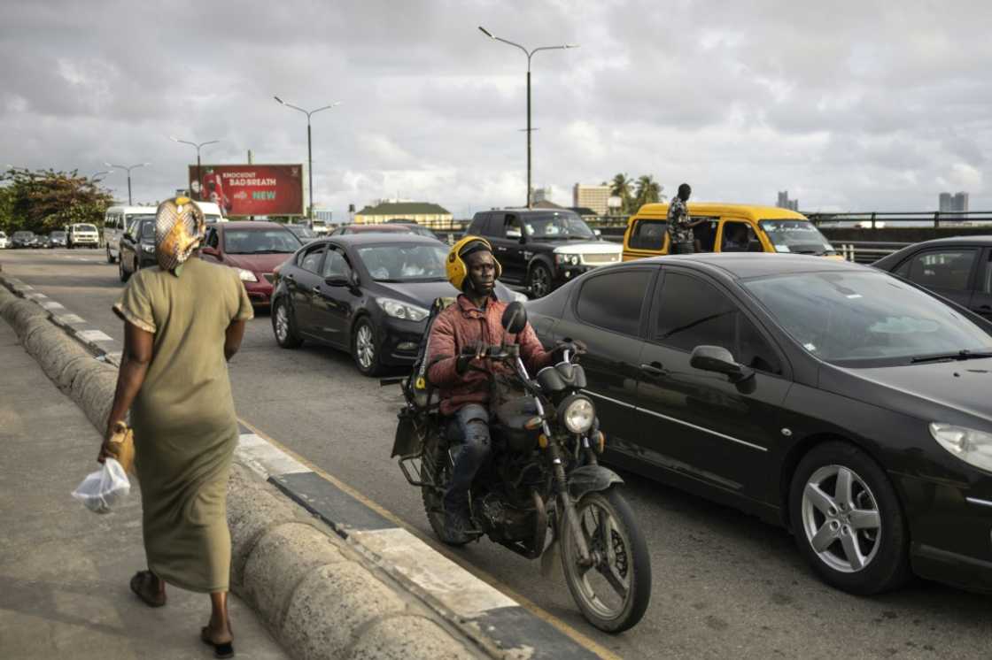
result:
[[[992,320],[992,236],[955,236],[903,248],[874,264]]]

